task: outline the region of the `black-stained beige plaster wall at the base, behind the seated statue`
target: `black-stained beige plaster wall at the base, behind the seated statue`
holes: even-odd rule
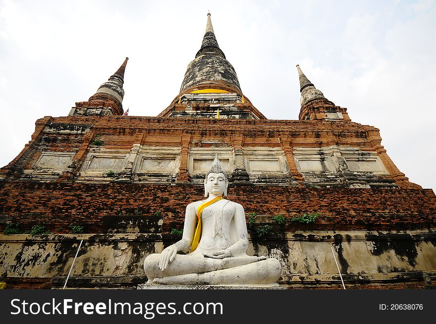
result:
[[[72,276],[142,276],[145,257],[179,238],[139,233],[0,235],[0,254],[4,256],[0,268],[11,277],[64,276],[84,239]],[[331,245],[341,273],[365,280],[382,273],[436,271],[436,233],[427,231],[288,231],[263,239],[252,237],[248,253],[277,258],[282,264],[282,283],[299,277],[326,280],[338,274]]]

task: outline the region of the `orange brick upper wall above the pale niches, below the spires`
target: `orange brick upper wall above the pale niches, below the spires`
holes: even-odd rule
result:
[[[56,127],[66,125],[67,128],[86,126],[90,131],[81,134],[44,131],[45,127],[50,125],[57,125]],[[16,174],[13,170],[17,167],[31,169],[43,151],[72,153],[83,151],[74,158],[74,161],[83,159],[89,149],[89,141],[94,136],[99,136],[105,142],[103,147],[105,150],[120,152],[129,151],[132,145],[137,143],[147,146],[185,145],[187,148],[198,146],[198,143],[204,140],[219,140],[222,145],[233,148],[281,148],[283,143],[286,143],[285,146],[289,147],[288,161],[292,161],[290,150],[294,147],[322,148],[332,145],[357,147],[362,151],[375,151],[379,154],[389,172],[389,175],[383,175],[383,178],[395,181],[400,188],[420,189],[419,185],[410,183],[389,159],[381,145],[382,139],[377,128],[345,120],[231,120],[138,116],[44,117],[37,120],[32,141],[16,159],[0,169],[0,176],[8,177],[10,174]],[[189,141],[184,143],[183,139],[187,136]],[[187,154],[186,150],[184,152]],[[79,167],[70,171],[77,173],[78,170]],[[294,178],[302,179],[301,174],[297,174],[296,170],[292,169],[291,173]],[[17,177],[19,175],[15,175],[14,179]],[[65,179],[61,177],[60,181]]]

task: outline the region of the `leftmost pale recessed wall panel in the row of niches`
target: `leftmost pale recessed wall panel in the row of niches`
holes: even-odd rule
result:
[[[42,152],[32,169],[24,170],[24,177],[38,181],[57,179],[73,161],[75,152]]]

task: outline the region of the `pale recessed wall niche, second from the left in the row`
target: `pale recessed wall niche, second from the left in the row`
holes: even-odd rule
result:
[[[129,151],[91,149],[83,162],[78,181],[111,181],[127,164]],[[111,173],[114,175],[109,176]],[[108,174],[109,173],[109,174]]]

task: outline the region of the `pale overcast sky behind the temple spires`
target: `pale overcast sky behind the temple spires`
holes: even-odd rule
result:
[[[160,113],[200,49],[208,10],[244,95],[267,118],[298,119],[300,64],[352,121],[380,129],[410,181],[435,190],[435,0],[0,0],[1,166],[38,118],[87,101],[126,56],[124,109]]]

